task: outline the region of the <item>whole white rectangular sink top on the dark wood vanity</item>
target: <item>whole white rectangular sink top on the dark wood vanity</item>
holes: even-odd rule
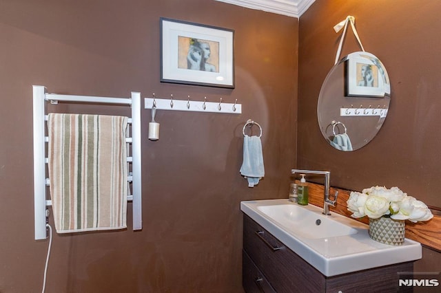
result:
[[[389,246],[369,237],[368,226],[322,208],[287,199],[240,203],[240,210],[325,276],[421,259],[420,243],[405,239]],[[320,224],[317,225],[320,220]]]

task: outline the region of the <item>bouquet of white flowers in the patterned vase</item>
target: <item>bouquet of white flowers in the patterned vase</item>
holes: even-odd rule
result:
[[[351,217],[391,217],[396,220],[406,220],[416,223],[433,218],[430,209],[415,197],[400,191],[398,187],[387,189],[384,186],[372,186],[363,189],[362,193],[352,191],[347,200],[347,209]]]

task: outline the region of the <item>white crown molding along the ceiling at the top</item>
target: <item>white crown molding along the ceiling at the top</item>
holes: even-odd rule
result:
[[[316,0],[216,0],[299,18]]]

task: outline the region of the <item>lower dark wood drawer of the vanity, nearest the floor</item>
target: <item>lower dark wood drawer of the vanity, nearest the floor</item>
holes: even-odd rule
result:
[[[242,250],[242,273],[243,273],[242,285],[245,292],[247,293],[276,292],[271,287],[271,285],[269,285],[269,282],[262,274],[262,272],[260,272],[260,270],[253,263],[252,259],[249,258],[245,250]]]

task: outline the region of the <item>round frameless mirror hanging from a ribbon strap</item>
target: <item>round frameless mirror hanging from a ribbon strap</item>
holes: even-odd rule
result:
[[[340,151],[362,148],[380,130],[390,94],[389,76],[376,56],[368,52],[345,56],[331,68],[318,97],[323,137]]]

